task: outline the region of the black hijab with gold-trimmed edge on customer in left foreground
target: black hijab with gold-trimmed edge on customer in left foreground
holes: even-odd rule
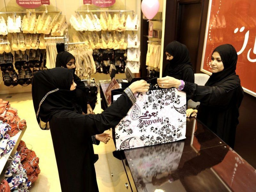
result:
[[[76,110],[72,102],[75,90],[70,91],[72,81],[71,69],[58,67],[35,73],[32,80],[32,98],[41,129],[49,129],[49,120],[59,110]]]

